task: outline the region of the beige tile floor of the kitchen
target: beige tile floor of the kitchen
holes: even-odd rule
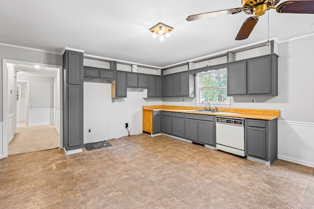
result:
[[[0,159],[0,208],[314,208],[312,167],[267,166],[166,136],[109,143]]]

